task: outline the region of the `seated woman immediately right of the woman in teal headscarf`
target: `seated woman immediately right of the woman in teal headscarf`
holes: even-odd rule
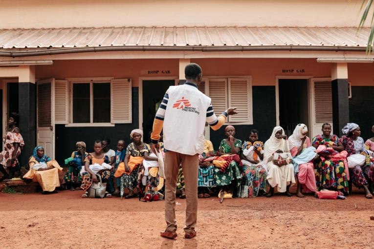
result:
[[[71,191],[81,189],[81,169],[85,158],[88,153],[86,152],[86,143],[77,142],[75,144],[76,151],[71,153],[71,157],[65,160],[65,164],[68,166],[66,174],[63,179],[63,185],[66,189],[69,188]]]

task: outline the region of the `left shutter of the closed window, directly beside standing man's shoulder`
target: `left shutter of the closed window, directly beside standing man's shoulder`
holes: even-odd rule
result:
[[[209,97],[216,115],[227,109],[227,79],[209,79]]]

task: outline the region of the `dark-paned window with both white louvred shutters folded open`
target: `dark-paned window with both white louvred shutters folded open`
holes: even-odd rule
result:
[[[131,108],[130,79],[70,78],[66,81],[55,81],[56,124],[67,126],[129,124],[132,123]]]

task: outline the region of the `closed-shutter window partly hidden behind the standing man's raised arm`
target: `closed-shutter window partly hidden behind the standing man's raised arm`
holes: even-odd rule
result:
[[[230,124],[253,124],[251,77],[204,78],[199,90],[212,99],[215,113],[237,107],[238,114],[229,116]]]

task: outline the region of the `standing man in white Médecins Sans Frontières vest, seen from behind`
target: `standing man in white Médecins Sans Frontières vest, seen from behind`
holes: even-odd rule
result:
[[[204,148],[204,127],[207,122],[218,130],[228,115],[236,114],[236,108],[228,108],[218,118],[214,114],[211,99],[198,90],[201,83],[201,67],[196,63],[184,69],[186,83],[170,86],[157,110],[153,123],[152,149],[158,148],[163,129],[165,151],[165,221],[167,228],[161,236],[176,238],[176,180],[182,164],[186,185],[187,239],[195,237],[198,216],[198,155]]]

